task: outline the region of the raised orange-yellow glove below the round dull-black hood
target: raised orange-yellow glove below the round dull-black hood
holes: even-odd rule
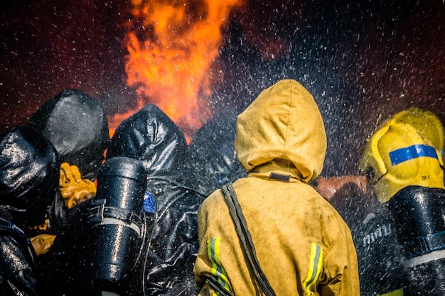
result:
[[[59,188],[68,209],[96,195],[95,183],[82,179],[77,166],[69,163],[60,165]]]

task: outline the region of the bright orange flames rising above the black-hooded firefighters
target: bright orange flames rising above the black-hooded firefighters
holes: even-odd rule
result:
[[[138,106],[110,126],[156,104],[186,134],[212,115],[211,67],[223,43],[221,28],[244,0],[132,0],[127,26],[127,84],[136,87]]]

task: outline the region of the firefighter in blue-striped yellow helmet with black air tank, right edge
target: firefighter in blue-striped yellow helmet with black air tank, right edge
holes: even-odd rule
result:
[[[441,128],[390,120],[372,135],[360,163],[377,199],[394,217],[406,257],[404,295],[445,293],[443,143]]]

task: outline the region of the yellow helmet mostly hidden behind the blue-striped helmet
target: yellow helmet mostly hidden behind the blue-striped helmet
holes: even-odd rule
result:
[[[412,107],[394,114],[382,126],[391,126],[392,124],[409,124],[416,128],[424,138],[431,142],[434,148],[439,150],[442,159],[444,158],[444,126],[439,117],[432,112]]]

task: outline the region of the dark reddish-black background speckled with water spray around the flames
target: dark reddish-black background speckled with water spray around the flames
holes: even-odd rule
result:
[[[223,28],[222,75],[208,103],[215,118],[239,113],[279,79],[299,80],[325,120],[326,176],[357,173],[366,137],[397,111],[417,106],[445,122],[444,1],[251,2]],[[129,6],[3,1],[0,132],[66,88],[99,99],[109,116],[134,108],[124,71]]]

